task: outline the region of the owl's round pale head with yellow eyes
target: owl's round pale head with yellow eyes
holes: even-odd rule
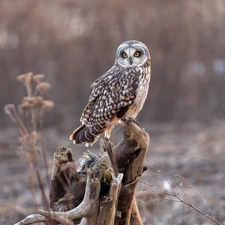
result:
[[[140,41],[126,41],[116,52],[116,62],[123,67],[142,66],[148,60],[150,60],[148,48]]]

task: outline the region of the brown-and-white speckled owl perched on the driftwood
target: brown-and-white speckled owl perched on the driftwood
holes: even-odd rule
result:
[[[74,144],[93,145],[100,134],[110,138],[122,118],[136,119],[148,94],[151,59],[140,41],[126,41],[116,52],[115,64],[92,85],[81,123],[70,136]]]

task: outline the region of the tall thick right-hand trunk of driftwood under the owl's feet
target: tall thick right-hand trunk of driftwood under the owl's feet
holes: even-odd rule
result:
[[[149,144],[149,135],[143,129],[132,120],[124,120],[124,138],[113,149],[116,152],[119,172],[124,174],[117,208],[121,217],[117,217],[116,225],[127,225],[131,221],[142,225],[139,211],[133,205],[136,202],[134,192],[143,173]]]

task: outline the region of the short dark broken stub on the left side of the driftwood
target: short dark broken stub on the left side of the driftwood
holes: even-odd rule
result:
[[[85,185],[86,176],[78,175],[72,150],[57,148],[50,182],[50,209],[68,211],[79,205],[85,194]]]

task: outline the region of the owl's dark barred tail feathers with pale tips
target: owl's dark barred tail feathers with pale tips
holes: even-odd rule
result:
[[[81,125],[70,135],[70,140],[73,140],[74,144],[85,143],[87,147],[92,146],[105,128],[105,124],[93,126]]]

